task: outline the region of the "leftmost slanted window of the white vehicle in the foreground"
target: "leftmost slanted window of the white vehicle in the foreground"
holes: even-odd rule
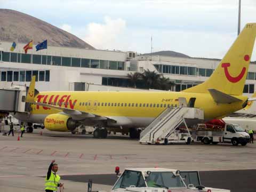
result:
[[[122,177],[118,179],[113,189],[126,188],[130,186],[146,187],[146,183],[141,172],[125,170]]]

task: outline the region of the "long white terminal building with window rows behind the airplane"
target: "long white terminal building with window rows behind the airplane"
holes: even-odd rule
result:
[[[18,43],[13,52],[12,42],[0,44],[0,86],[29,85],[36,76],[39,91],[130,90],[127,74],[144,70],[157,71],[174,83],[173,91],[188,89],[211,76],[220,60],[164,55],[136,55],[134,52],[78,49],[48,46],[45,50],[23,51]],[[256,63],[251,62],[244,94],[254,93]],[[141,85],[139,88],[145,88]],[[134,90],[134,89],[133,89]]]

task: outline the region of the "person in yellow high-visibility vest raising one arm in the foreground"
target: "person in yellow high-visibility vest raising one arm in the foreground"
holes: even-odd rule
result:
[[[56,174],[56,172],[58,171],[58,164],[54,162],[55,160],[51,162],[45,178],[44,186],[46,192],[57,191],[58,187],[63,187],[63,184],[59,182],[60,176]]]

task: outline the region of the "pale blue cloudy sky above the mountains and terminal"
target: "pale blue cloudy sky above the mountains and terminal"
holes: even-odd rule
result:
[[[256,22],[256,0],[241,2],[242,30]],[[152,36],[153,52],[221,59],[237,37],[238,0],[0,0],[0,8],[49,22],[102,50],[149,53]]]

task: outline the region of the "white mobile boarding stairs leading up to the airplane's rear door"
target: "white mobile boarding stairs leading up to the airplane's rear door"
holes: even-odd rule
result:
[[[203,119],[203,110],[193,107],[166,108],[140,133],[140,143],[157,144],[163,143],[185,119]],[[188,130],[188,127],[187,127]],[[188,132],[190,135],[190,133]],[[191,137],[191,136],[190,136]]]

